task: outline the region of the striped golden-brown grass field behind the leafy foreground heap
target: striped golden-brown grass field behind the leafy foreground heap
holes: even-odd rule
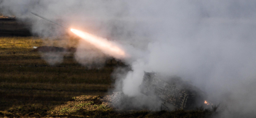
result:
[[[38,52],[31,51],[33,46],[44,45],[47,39],[44,40],[0,37],[0,110],[30,104],[51,107],[71,96],[104,95],[110,88],[113,65],[89,70],[77,63],[71,53],[65,55],[63,63],[51,66]]]

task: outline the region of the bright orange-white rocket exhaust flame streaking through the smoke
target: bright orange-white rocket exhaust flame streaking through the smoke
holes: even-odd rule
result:
[[[70,29],[70,31],[75,33],[77,36],[81,37],[85,41],[91,43],[107,55],[111,55],[117,59],[122,59],[127,56],[124,50],[116,46],[114,42],[108,41],[105,38],[97,37],[76,29]]]

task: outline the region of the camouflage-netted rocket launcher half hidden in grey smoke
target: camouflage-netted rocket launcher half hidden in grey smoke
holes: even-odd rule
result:
[[[180,109],[191,109],[204,103],[205,93],[188,82],[182,81],[180,77],[164,77],[145,72],[140,88],[143,94],[158,96],[164,103],[171,103]]]

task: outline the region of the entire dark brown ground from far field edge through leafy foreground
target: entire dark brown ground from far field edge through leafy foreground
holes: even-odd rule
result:
[[[100,96],[113,88],[113,70],[124,65],[108,60],[102,68],[88,69],[76,62],[74,52],[65,53],[62,63],[49,65],[40,52],[33,51],[34,46],[75,47],[79,39],[10,37],[12,33],[24,34],[20,29],[26,35],[29,32],[22,28],[8,29],[10,25],[17,26],[13,19],[0,20],[0,24],[5,24],[2,25],[5,28],[0,28],[0,117],[205,118],[216,114],[213,112],[216,109],[203,108],[116,111],[104,105]]]

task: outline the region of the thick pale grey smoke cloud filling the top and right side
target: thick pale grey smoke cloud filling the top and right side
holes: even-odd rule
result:
[[[200,87],[225,106],[222,117],[256,116],[256,1],[0,1],[1,13],[29,18],[39,36],[65,32],[30,11],[123,45],[133,71],[115,73],[116,89],[128,96],[140,95],[144,70],[154,71]],[[83,51],[76,56],[79,63],[103,58]]]

